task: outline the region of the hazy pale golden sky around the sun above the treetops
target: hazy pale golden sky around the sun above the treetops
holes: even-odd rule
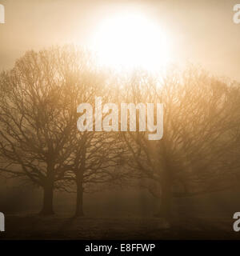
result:
[[[171,39],[174,62],[201,65],[213,74],[240,81],[240,24],[233,22],[235,0],[0,0],[0,70],[26,50],[55,44],[88,43],[102,18],[122,9],[154,18]]]

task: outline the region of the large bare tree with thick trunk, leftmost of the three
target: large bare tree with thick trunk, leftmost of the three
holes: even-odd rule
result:
[[[1,170],[42,187],[42,214],[54,213],[54,188],[64,178],[76,136],[68,90],[73,74],[88,66],[86,54],[70,48],[29,51],[1,74]]]

